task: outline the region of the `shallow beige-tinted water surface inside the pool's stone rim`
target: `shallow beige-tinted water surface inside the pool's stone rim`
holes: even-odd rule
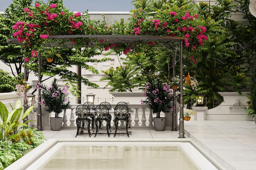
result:
[[[64,144],[38,170],[200,170],[175,143]]]

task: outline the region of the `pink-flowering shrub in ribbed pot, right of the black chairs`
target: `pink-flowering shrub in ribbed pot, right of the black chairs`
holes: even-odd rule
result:
[[[165,128],[166,117],[160,117],[160,112],[173,108],[169,93],[172,93],[171,86],[163,82],[162,79],[153,79],[146,84],[143,93],[146,99],[141,99],[141,104],[147,104],[153,114],[156,114],[156,117],[153,118],[155,130],[164,130]]]

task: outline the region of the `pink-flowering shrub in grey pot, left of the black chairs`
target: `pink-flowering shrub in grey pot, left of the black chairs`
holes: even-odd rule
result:
[[[70,108],[70,102],[66,97],[68,88],[67,86],[63,86],[62,89],[59,88],[56,80],[56,78],[53,79],[51,86],[41,85],[43,99],[40,104],[45,104],[47,111],[55,113],[55,117],[50,117],[52,130],[61,129],[62,117],[59,117],[59,114]]]

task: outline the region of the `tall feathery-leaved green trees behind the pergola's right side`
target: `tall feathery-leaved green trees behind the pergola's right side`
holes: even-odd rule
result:
[[[231,20],[230,15],[235,12],[234,9],[236,7],[231,0],[217,0],[217,5],[211,6],[205,2],[200,2],[200,6],[197,6],[196,4],[190,4],[190,1],[186,0],[170,0],[168,3],[161,0],[134,0],[132,3],[136,7],[132,12],[136,14],[137,18],[150,18],[152,20],[161,18],[159,20],[166,21],[170,18],[164,18],[166,16],[165,13],[177,9],[179,9],[180,13],[189,11],[200,14],[199,18],[201,20],[195,20],[192,24],[205,26],[208,40],[202,46],[198,46],[193,53],[197,60],[195,64],[191,64],[191,59],[188,57],[191,56],[189,49],[184,48],[183,73],[184,75],[190,73],[199,82],[197,91],[193,91],[188,87],[184,89],[185,104],[193,102],[195,94],[200,93],[209,99],[207,100],[207,106],[211,108],[213,103],[218,104],[223,101],[218,92],[237,91],[240,93],[240,89],[247,89],[249,84],[247,77],[249,57],[247,55],[248,52],[243,52],[247,41],[244,41],[245,38],[241,38],[247,32],[245,31],[245,26]],[[138,24],[137,18],[133,17],[130,25]],[[143,25],[145,22],[140,24],[141,27],[145,26]],[[190,24],[184,22],[184,25],[181,26],[187,27]],[[150,33],[153,33],[153,28],[148,27],[147,29]],[[154,33],[161,34],[161,31],[161,29],[157,29]],[[141,82],[143,82],[142,80],[147,82],[145,81],[146,75],[157,75],[161,79],[170,81],[174,64],[176,66],[176,74],[180,72],[179,62],[177,59],[173,60],[173,56],[178,52],[165,47],[152,46],[150,49],[145,47],[143,50],[136,50],[135,54],[129,53],[124,64],[130,67],[130,73],[134,74],[135,78],[133,80],[137,81],[138,86],[145,86]],[[111,71],[109,70],[111,77],[119,77],[118,74],[115,74],[119,72],[113,70],[113,68],[111,69]],[[108,78],[104,77],[104,79]],[[112,82],[111,86],[115,86],[115,83]],[[115,86],[115,91],[118,91],[117,87]]]

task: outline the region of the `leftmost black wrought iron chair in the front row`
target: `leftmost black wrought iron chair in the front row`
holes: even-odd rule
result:
[[[80,104],[76,106],[76,126],[77,126],[77,131],[76,131],[76,136],[79,134],[79,130],[81,129],[81,133],[83,132],[83,128],[85,125],[85,121],[88,123],[88,135],[91,137],[91,132],[90,132],[90,124],[92,122],[91,118],[91,113],[90,113],[90,108],[84,104]]]

